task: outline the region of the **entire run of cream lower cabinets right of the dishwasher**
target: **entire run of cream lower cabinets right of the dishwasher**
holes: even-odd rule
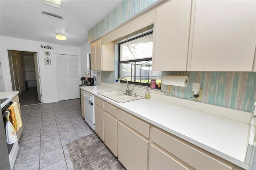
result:
[[[95,132],[126,169],[242,169],[98,97]]]

